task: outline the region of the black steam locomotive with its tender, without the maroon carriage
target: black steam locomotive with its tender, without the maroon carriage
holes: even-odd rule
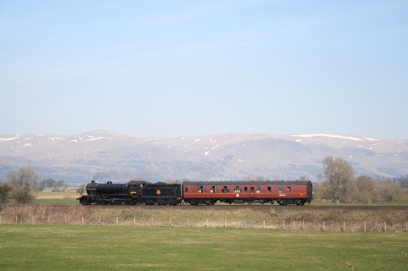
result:
[[[86,186],[87,195],[77,198],[83,205],[125,204],[125,205],[177,205],[182,200],[181,185],[148,183],[131,180],[126,184],[95,183]]]

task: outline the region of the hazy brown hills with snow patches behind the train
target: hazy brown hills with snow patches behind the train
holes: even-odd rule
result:
[[[158,180],[267,179],[317,180],[321,161],[346,159],[356,174],[399,177],[408,174],[408,140],[302,134],[216,134],[174,138],[130,137],[109,131],[79,135],[0,135],[0,176],[29,166],[42,178],[88,182],[124,181],[138,176]]]

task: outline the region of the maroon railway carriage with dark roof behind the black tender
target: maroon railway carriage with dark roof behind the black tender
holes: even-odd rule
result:
[[[185,182],[183,199],[192,205],[214,205],[218,200],[227,203],[274,201],[280,205],[310,203],[312,182],[308,181],[238,181]]]

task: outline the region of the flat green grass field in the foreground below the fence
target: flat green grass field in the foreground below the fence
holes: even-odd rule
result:
[[[406,270],[407,233],[0,225],[2,270]]]

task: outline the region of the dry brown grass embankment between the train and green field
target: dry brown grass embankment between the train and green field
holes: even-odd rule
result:
[[[264,228],[325,231],[403,231],[408,222],[405,210],[293,209],[270,207],[266,210],[239,209],[150,209],[82,205],[0,205],[1,223],[23,224],[101,224],[123,226],[171,226]],[[100,219],[99,219],[100,218]],[[171,222],[170,222],[171,220]],[[324,222],[324,224],[323,224]],[[386,222],[386,225],[384,224]],[[406,229],[405,229],[406,230]]]

